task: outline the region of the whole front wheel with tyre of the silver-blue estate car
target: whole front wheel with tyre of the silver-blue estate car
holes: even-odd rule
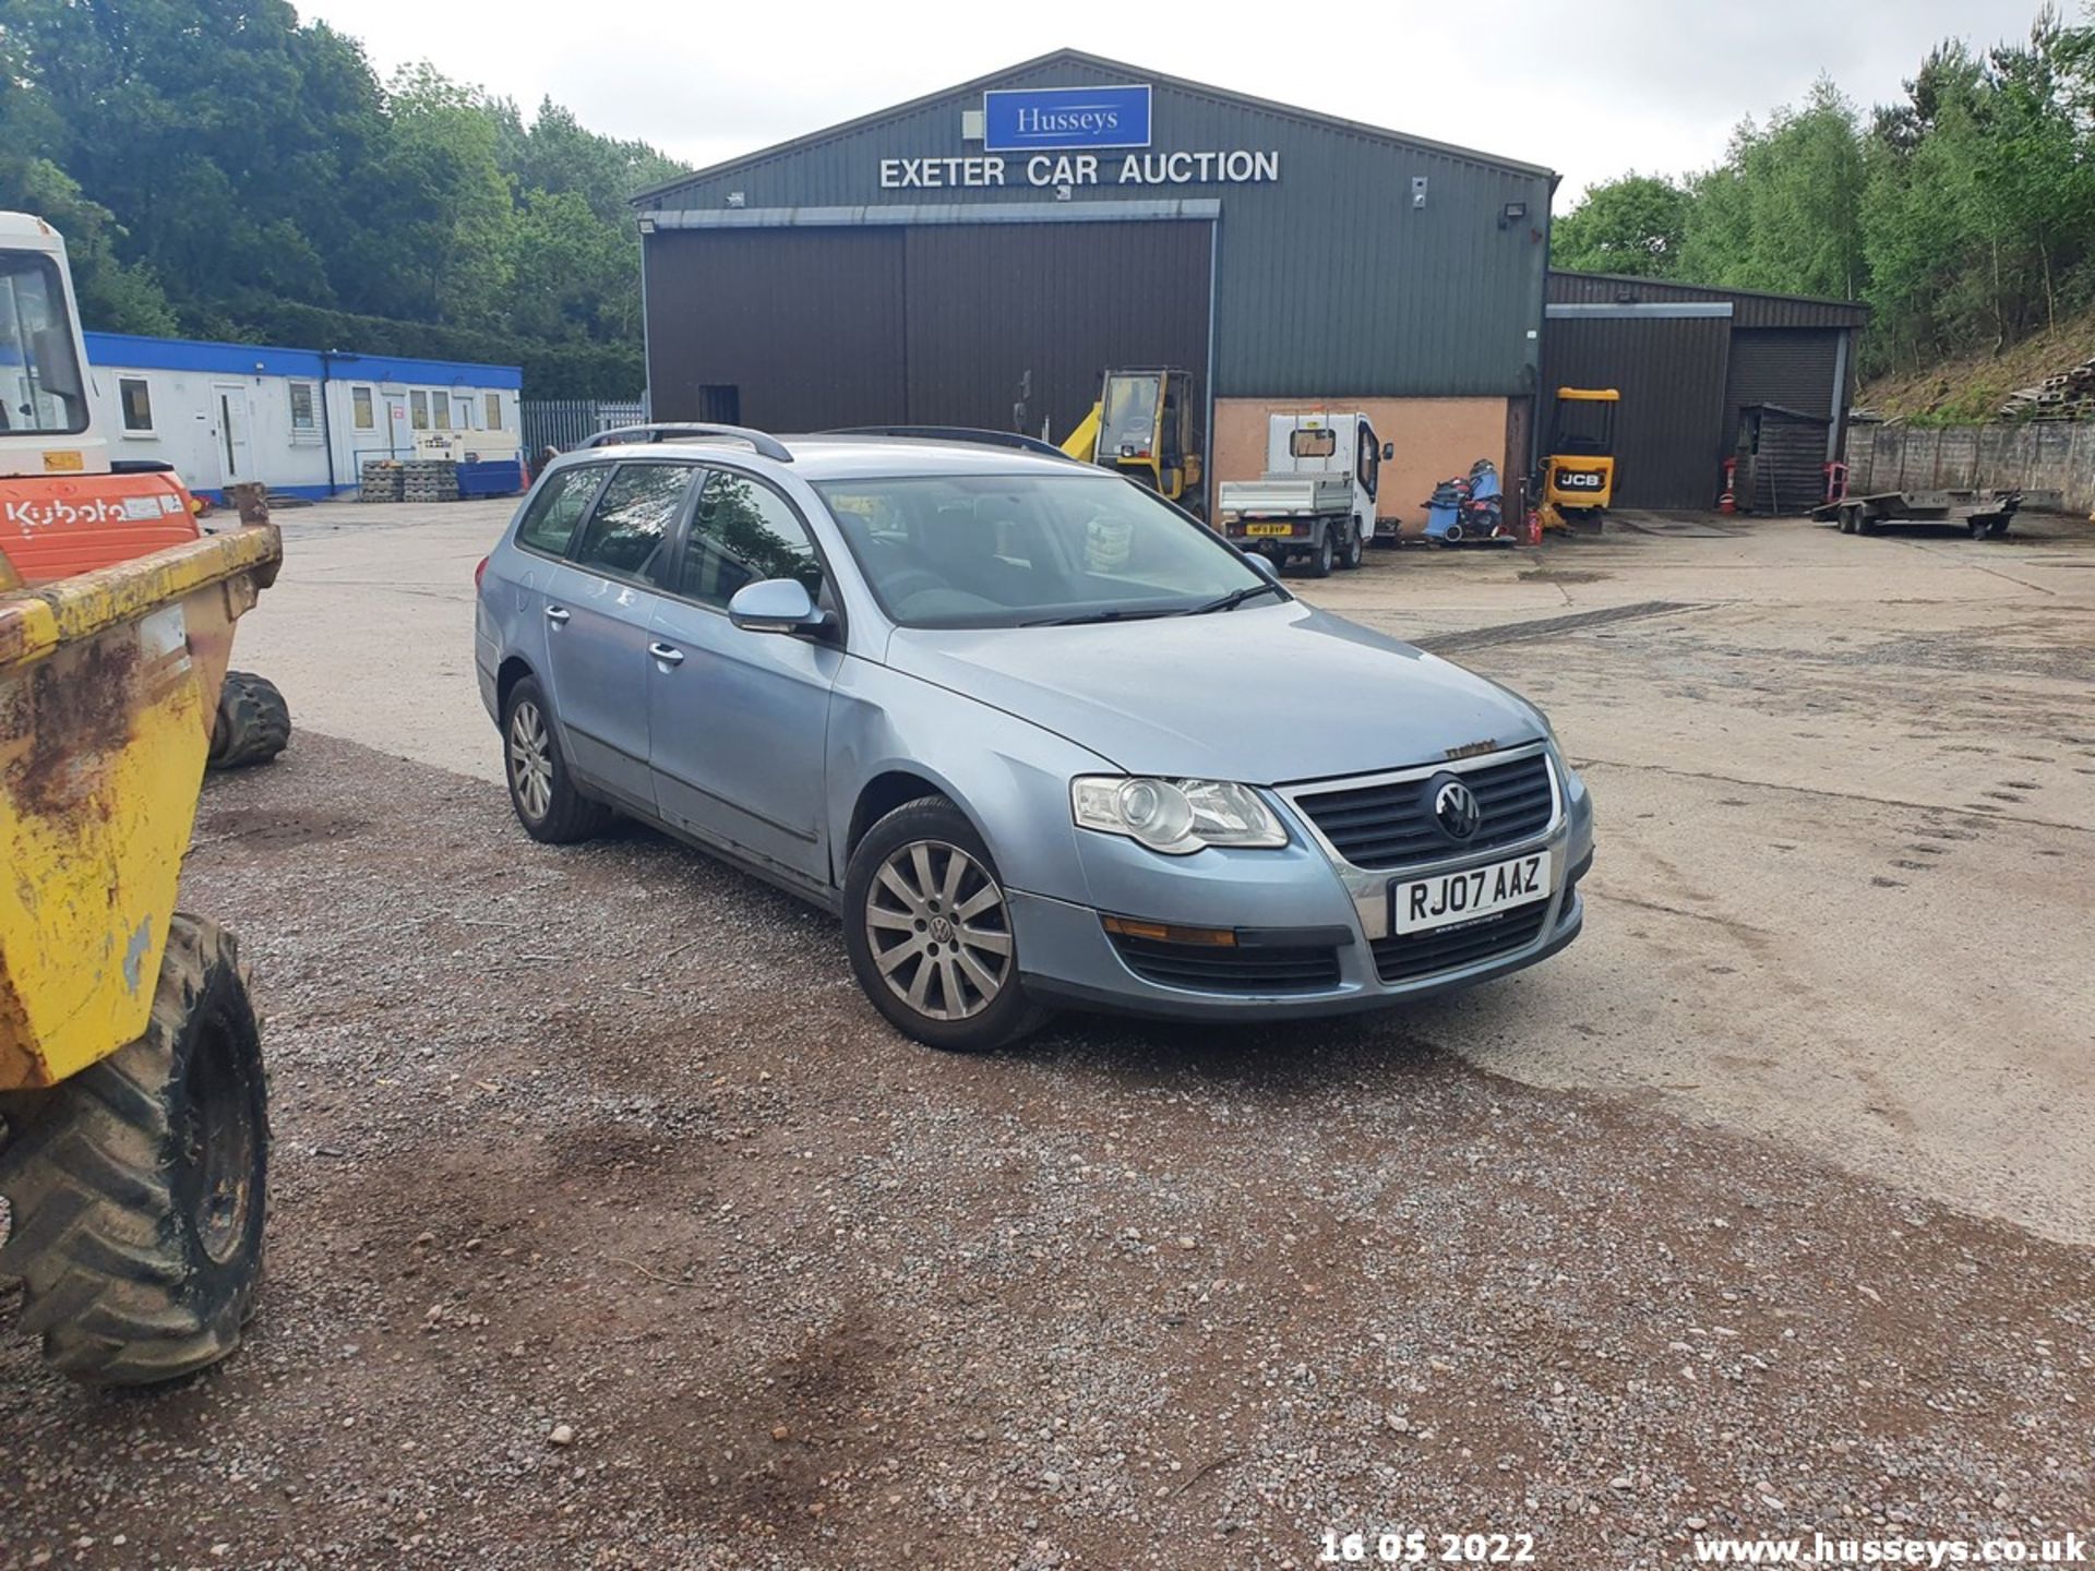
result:
[[[844,949],[874,1008],[926,1047],[985,1054],[1050,1018],[1020,980],[995,859],[943,796],[895,809],[851,853]]]

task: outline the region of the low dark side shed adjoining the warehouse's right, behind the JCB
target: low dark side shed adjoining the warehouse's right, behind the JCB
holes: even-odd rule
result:
[[[1869,308],[1754,289],[1559,272],[1548,385],[1617,388],[1617,507],[1710,507],[1737,457],[1741,507],[1818,501],[1854,398]]]

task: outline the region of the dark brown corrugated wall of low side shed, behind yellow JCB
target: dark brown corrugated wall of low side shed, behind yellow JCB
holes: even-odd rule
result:
[[[1617,388],[1615,505],[1710,507],[1724,423],[1724,316],[1552,316],[1544,446],[1557,388]]]

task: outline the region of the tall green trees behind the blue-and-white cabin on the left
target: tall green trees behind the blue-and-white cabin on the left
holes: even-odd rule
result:
[[[4,17],[0,205],[65,233],[88,327],[297,327],[321,348],[524,360],[538,396],[639,392],[624,199],[677,172],[654,149],[551,103],[526,126],[427,65],[381,84],[356,40],[283,0]]]

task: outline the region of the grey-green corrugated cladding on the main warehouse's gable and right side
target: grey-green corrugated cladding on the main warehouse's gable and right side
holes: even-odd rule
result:
[[[995,86],[1154,84],[1156,151],[1278,151],[1267,184],[1119,184],[1119,153],[1100,153],[1102,184],[1075,203],[1156,197],[1221,201],[1217,364],[1223,396],[1519,396],[1540,354],[1550,176],[1423,142],[1320,121],[1091,59],[1050,59]],[[802,138],[647,197],[647,209],[834,207],[863,203],[995,205],[1043,201],[1022,157],[1001,191],[882,191],[880,159],[978,153],[960,113],[983,84]],[[1412,207],[1423,178],[1425,205]],[[1504,207],[1521,203],[1523,218]],[[1098,241],[1112,224],[1077,226]],[[821,230],[834,235],[836,230]],[[662,235],[649,237],[660,247]],[[649,274],[652,276],[652,274]],[[1043,281],[1043,274],[1029,274]],[[1205,281],[1203,281],[1205,300]],[[683,302],[677,302],[679,308]],[[654,300],[649,300],[654,306]],[[660,358],[660,356],[658,356]],[[1127,356],[1121,356],[1127,358]],[[662,360],[670,369],[670,360]],[[748,411],[744,411],[748,413]]]

